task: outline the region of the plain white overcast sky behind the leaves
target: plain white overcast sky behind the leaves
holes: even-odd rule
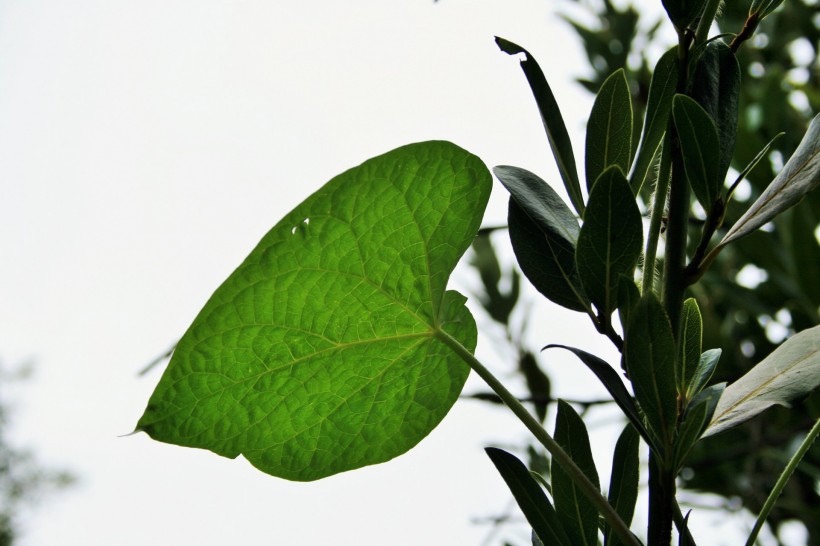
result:
[[[309,484],[119,435],[133,430],[161,369],[137,371],[334,175],[446,139],[489,166],[558,181],[524,76],[493,36],[536,56],[581,158],[591,97],[572,81],[587,62],[557,17],[569,7],[0,0],[0,361],[35,363],[34,378],[3,396],[16,408],[15,441],[79,478],[26,519],[21,545],[481,544],[489,528],[472,520],[509,506],[482,447],[525,437],[481,403],[457,403],[403,457]],[[505,213],[496,184],[486,224]],[[466,269],[455,283],[475,285]],[[535,310],[534,346],[613,355],[579,316]],[[491,340],[478,354],[504,377]],[[554,394],[602,395],[568,356],[542,363],[572,370],[556,376]],[[467,390],[481,389],[471,380]],[[593,415],[591,426],[605,433],[596,455],[606,481],[606,431],[620,425]],[[712,524],[702,513],[696,528]],[[498,536],[527,539],[523,526]],[[743,535],[704,544],[718,536]]]

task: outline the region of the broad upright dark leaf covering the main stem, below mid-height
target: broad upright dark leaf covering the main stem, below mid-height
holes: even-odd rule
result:
[[[645,294],[626,330],[624,357],[635,398],[662,446],[671,445],[677,422],[675,355],[669,318],[654,294]]]

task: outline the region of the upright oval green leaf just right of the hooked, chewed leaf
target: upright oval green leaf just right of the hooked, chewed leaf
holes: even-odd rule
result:
[[[604,81],[589,114],[585,167],[587,190],[607,168],[629,170],[632,152],[632,98],[626,73],[619,68]]]

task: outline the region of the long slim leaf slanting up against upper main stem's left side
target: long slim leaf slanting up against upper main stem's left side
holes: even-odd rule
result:
[[[655,157],[669,126],[672,98],[678,88],[678,72],[678,48],[673,47],[658,60],[649,84],[643,136],[635,157],[635,165],[629,176],[629,185],[636,195],[646,180],[652,158]]]

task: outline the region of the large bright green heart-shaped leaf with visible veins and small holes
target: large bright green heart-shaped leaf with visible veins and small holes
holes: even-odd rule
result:
[[[211,296],[137,430],[292,480],[413,447],[469,373],[440,341],[476,342],[465,298],[446,285],[490,187],[483,163],[447,142],[328,182]]]

